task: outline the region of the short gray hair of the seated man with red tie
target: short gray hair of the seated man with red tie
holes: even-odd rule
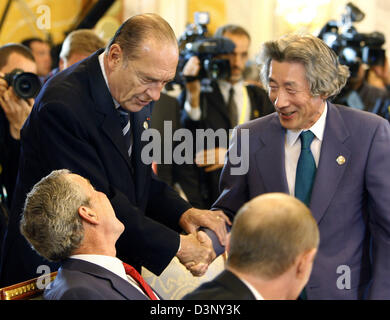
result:
[[[27,194],[20,230],[32,248],[50,261],[69,257],[84,237],[80,206],[90,199],[68,179],[69,170],[56,170]]]

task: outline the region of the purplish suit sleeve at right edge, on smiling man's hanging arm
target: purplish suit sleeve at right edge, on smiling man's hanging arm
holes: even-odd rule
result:
[[[390,125],[382,120],[369,151],[366,186],[372,236],[373,282],[369,299],[390,298]]]

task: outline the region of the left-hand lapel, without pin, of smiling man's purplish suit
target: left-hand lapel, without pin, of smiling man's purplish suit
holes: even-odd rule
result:
[[[262,128],[261,147],[256,151],[256,165],[266,192],[289,193],[284,163],[285,130],[275,113],[273,119]]]

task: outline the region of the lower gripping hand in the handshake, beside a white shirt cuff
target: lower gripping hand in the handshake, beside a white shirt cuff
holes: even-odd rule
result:
[[[204,275],[209,264],[216,258],[211,240],[203,231],[199,231],[197,236],[181,235],[180,250],[176,256],[197,277]]]

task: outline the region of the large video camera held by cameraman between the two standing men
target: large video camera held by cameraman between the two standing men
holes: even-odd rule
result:
[[[227,38],[208,37],[207,24],[210,19],[207,12],[195,12],[194,21],[179,38],[180,57],[176,82],[183,84],[182,69],[192,56],[197,56],[201,64],[199,75],[186,77],[185,80],[199,79],[203,89],[210,90],[209,84],[212,80],[230,77],[229,60],[219,59],[218,56],[232,53],[235,44]]]

